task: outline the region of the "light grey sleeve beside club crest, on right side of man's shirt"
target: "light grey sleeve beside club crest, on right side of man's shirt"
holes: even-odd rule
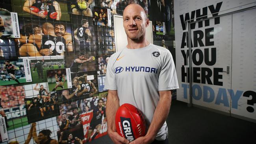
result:
[[[178,79],[171,52],[167,51],[161,61],[163,61],[163,63],[158,78],[158,90],[178,89]]]

